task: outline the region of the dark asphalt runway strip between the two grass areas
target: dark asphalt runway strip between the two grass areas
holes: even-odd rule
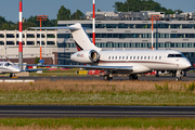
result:
[[[195,117],[195,106],[1,105],[0,118]]]

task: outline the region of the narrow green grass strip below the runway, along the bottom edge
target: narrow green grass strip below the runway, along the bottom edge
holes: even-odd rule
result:
[[[2,128],[26,129],[80,129],[80,130],[143,130],[143,129],[195,129],[194,118],[61,118],[31,119],[6,118],[0,119]]]

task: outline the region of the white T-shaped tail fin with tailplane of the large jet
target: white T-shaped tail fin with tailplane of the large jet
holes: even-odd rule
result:
[[[95,50],[101,51],[101,48],[95,47],[91,39],[88,37],[87,32],[82,28],[80,23],[76,23],[75,25],[70,25],[69,27],[30,27],[32,29],[69,29],[74,37],[75,43],[77,46],[78,51],[81,50]]]

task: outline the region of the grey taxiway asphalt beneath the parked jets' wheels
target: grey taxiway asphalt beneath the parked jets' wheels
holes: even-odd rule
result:
[[[0,80],[104,80],[103,76],[63,76],[63,77],[18,77],[18,78],[9,78],[9,77],[0,77]],[[162,80],[176,80],[176,77],[172,76],[139,76],[138,81],[162,81]],[[127,76],[116,76],[113,80],[129,80]],[[182,78],[183,81],[195,80],[195,73],[187,73],[186,77]]]

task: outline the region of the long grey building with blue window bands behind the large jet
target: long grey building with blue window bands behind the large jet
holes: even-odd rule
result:
[[[96,12],[95,41],[103,50],[147,50],[152,48],[152,15],[160,15],[154,22],[154,48],[158,50],[178,50],[192,63],[195,63],[195,13],[165,15],[164,12]],[[58,26],[81,23],[92,28],[92,12],[81,17],[83,21],[58,21]],[[86,30],[92,39],[92,29]],[[76,52],[76,46],[69,30],[58,30],[58,64],[76,64],[68,56]]]

